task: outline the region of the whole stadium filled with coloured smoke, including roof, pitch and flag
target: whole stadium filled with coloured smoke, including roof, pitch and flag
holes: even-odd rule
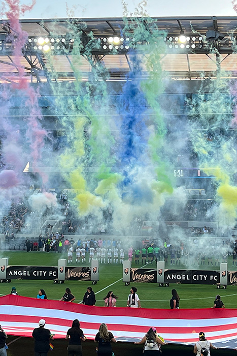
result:
[[[234,354],[237,16],[159,18],[141,7],[123,18],[30,20],[7,4],[0,323],[8,355],[33,352],[42,317],[58,355],[75,318],[86,355],[103,322],[115,354],[142,355],[134,341],[149,327],[168,342],[164,356],[193,352],[200,331],[221,348],[211,354]],[[9,295],[13,286],[19,295]],[[82,304],[88,286],[95,307]],[[131,286],[141,309],[124,309]],[[70,305],[59,302],[65,288]],[[169,310],[173,288],[180,310]],[[36,299],[39,289],[48,300]],[[111,290],[116,309],[105,308]],[[221,310],[212,309],[218,293]]]

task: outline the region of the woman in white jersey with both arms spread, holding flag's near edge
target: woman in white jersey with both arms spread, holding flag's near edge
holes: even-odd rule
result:
[[[167,345],[167,342],[161,340],[157,334],[156,328],[150,328],[144,338],[139,342],[134,342],[136,345],[144,345],[144,356],[161,355],[161,345]]]

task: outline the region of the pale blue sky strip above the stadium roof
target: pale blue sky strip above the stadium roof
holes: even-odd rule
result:
[[[126,3],[129,12],[133,12],[140,1],[127,0]],[[237,15],[231,0],[148,0],[147,12],[152,17]],[[36,0],[35,7],[24,18],[65,18],[69,14],[80,18],[122,17],[123,6],[121,0]]]

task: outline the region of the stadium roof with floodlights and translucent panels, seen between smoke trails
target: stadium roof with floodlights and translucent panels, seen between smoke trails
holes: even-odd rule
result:
[[[128,20],[130,21],[130,20]],[[141,18],[141,21],[146,20]],[[122,36],[124,21],[122,18],[103,19],[34,19],[20,20],[23,31],[27,32],[32,47],[27,46],[26,51],[16,56],[11,44],[7,43],[9,33],[14,32],[8,20],[1,20],[0,28],[0,83],[11,83],[18,80],[19,69],[23,69],[25,76],[31,82],[46,81],[74,81],[77,80],[75,70],[80,70],[80,80],[87,81],[91,75],[91,66],[99,65],[109,72],[107,80],[125,80],[131,70],[132,54],[129,49],[113,51],[96,49],[92,53],[92,61],[82,54],[80,64],[72,66],[74,55],[70,51],[49,51],[33,49],[33,41],[39,38],[56,37],[61,41],[71,41],[72,22],[85,24],[83,32],[87,36],[90,32],[95,38]],[[167,52],[161,55],[161,64],[165,75],[172,79],[203,79],[215,78],[217,72],[223,70],[222,75],[237,77],[237,16],[235,17],[179,17],[179,18],[154,18],[151,24],[147,21],[148,28],[152,31],[154,23],[158,29],[165,32]],[[208,44],[207,32],[212,31]],[[184,45],[177,40],[180,35],[189,38]],[[219,36],[220,35],[220,36]],[[219,36],[219,38],[218,38]],[[193,41],[192,39],[195,38]],[[2,41],[2,43],[1,43]],[[73,40],[72,40],[73,41]],[[211,47],[210,44],[211,43]],[[61,42],[60,42],[61,44]],[[102,43],[103,44],[103,43]],[[189,47],[187,47],[187,44]],[[191,48],[191,44],[195,45]],[[181,47],[183,46],[183,48]],[[37,47],[35,47],[37,48]],[[70,42],[73,48],[73,42]],[[218,51],[216,51],[216,49]],[[50,55],[49,55],[50,53]],[[220,55],[218,54],[220,53]],[[146,78],[146,58],[143,54],[142,62],[144,71],[141,74]],[[91,58],[90,58],[91,59]],[[102,78],[101,78],[102,79]]]

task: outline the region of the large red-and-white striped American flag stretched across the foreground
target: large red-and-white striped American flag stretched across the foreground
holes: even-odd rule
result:
[[[202,331],[215,346],[237,348],[237,309],[106,308],[11,294],[0,297],[0,323],[7,334],[31,336],[42,318],[55,338],[64,338],[72,321],[79,319],[88,339],[105,322],[118,341],[142,339],[155,327],[167,342],[192,344]]]

